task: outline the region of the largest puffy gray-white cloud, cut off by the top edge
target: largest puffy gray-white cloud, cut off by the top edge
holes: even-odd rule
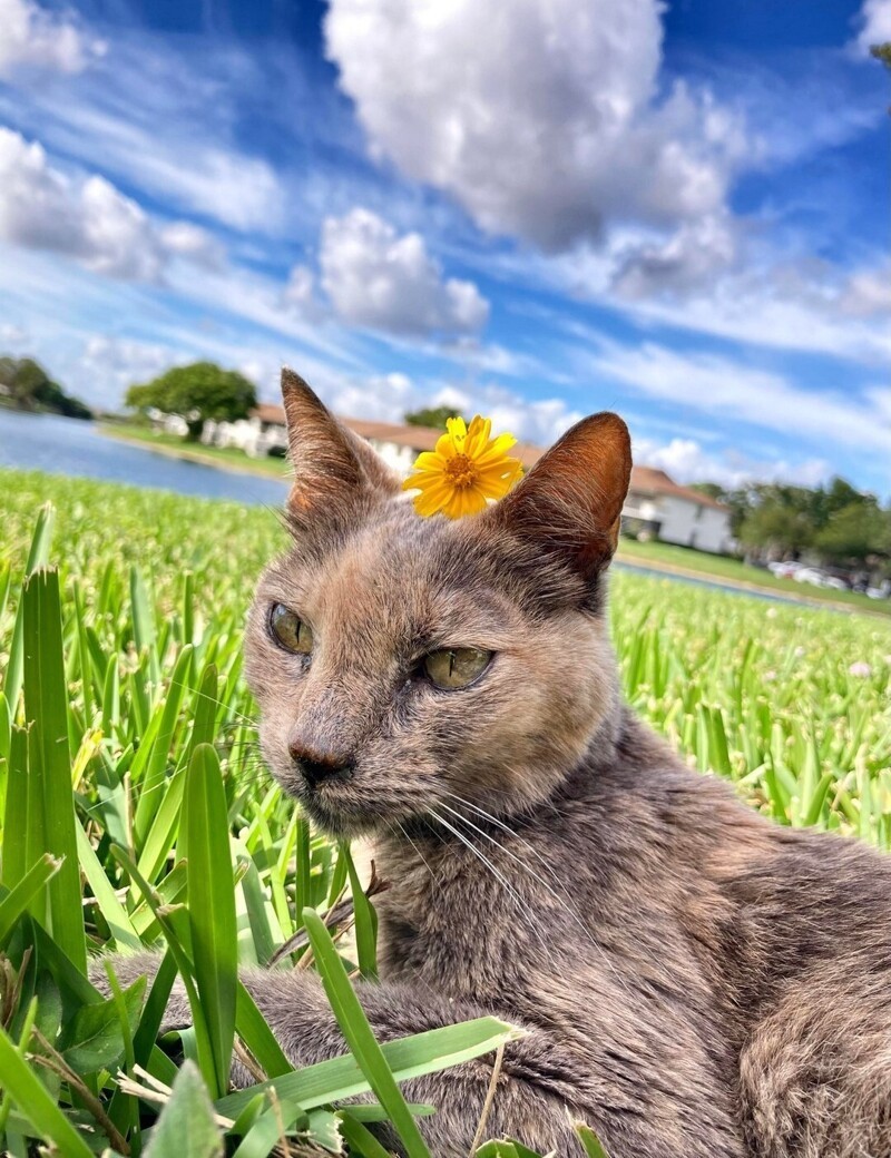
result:
[[[327,50],[372,147],[546,250],[720,213],[751,142],[707,93],[656,100],[658,0],[333,0]]]

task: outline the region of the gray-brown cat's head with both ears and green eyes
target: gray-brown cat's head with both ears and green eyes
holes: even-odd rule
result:
[[[293,547],[263,574],[246,642],[269,767],[338,835],[545,799],[616,716],[604,572],[625,423],[584,419],[504,499],[452,521],[417,515],[295,374],[282,387]]]

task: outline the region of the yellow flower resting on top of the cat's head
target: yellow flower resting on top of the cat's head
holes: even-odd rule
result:
[[[523,466],[506,454],[517,439],[512,434],[491,438],[489,418],[477,415],[469,430],[463,418],[450,418],[446,431],[436,450],[417,456],[415,474],[402,488],[421,491],[415,497],[418,514],[441,512],[460,519],[484,510],[487,499],[503,498],[523,474]]]

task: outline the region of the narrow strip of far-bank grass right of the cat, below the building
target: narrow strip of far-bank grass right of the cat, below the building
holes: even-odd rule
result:
[[[708,555],[689,547],[675,547],[673,543],[638,543],[634,538],[622,538],[619,555],[625,562],[638,563],[642,566],[677,567],[695,572],[703,578],[726,579],[732,584],[760,587],[805,602],[832,603],[838,607],[859,608],[872,615],[891,616],[889,599],[870,599],[855,591],[831,591],[827,587],[796,582],[794,579],[781,579],[764,567],[753,567],[740,559]]]

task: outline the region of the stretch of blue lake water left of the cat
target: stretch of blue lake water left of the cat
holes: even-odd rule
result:
[[[0,406],[0,468],[108,478],[180,494],[282,506],[287,485],[218,470],[100,434],[93,423]]]

